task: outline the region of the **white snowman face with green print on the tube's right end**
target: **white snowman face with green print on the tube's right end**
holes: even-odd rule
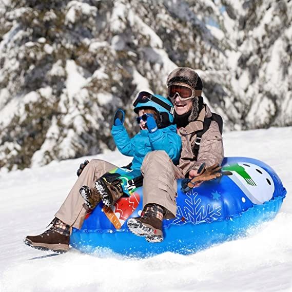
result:
[[[260,166],[238,162],[224,166],[223,170],[229,171],[229,178],[252,203],[261,205],[272,198],[275,190],[274,181],[269,173]]]

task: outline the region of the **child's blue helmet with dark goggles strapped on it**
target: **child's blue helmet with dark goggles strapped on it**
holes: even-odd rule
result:
[[[158,113],[158,128],[165,128],[173,124],[173,104],[164,96],[141,91],[134,101],[134,112],[138,113],[142,108],[151,108]]]

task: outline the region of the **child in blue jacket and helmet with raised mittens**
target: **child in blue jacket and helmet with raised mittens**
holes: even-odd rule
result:
[[[130,170],[134,177],[141,176],[140,168],[148,152],[164,150],[177,164],[180,157],[182,142],[173,124],[173,106],[161,95],[142,91],[134,102],[134,112],[138,114],[137,122],[140,132],[132,139],[124,127],[125,112],[119,109],[114,115],[111,133],[114,142],[122,154],[132,156]],[[87,186],[80,189],[85,204],[94,208],[100,200],[106,206],[112,206],[124,194],[121,180],[116,173],[106,173],[95,183],[95,189]]]

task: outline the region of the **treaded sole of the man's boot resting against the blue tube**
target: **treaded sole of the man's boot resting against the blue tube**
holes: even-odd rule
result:
[[[137,219],[131,218],[127,222],[127,226],[134,235],[145,237],[150,243],[162,242],[163,233],[159,229],[155,229],[157,233],[154,233],[152,227],[148,224],[142,223]]]

